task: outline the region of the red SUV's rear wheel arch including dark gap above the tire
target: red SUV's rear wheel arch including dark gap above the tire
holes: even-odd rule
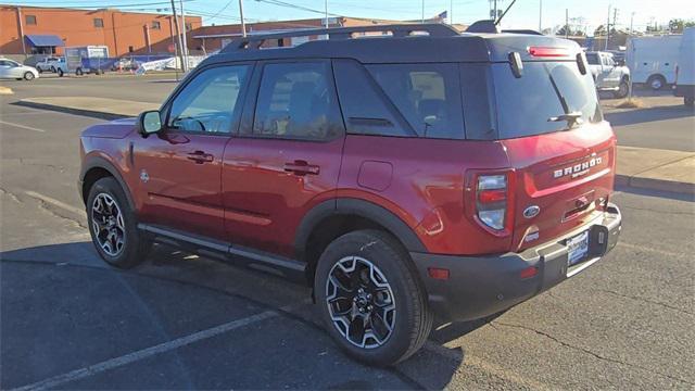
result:
[[[427,252],[415,230],[386,207],[361,199],[327,200],[306,214],[295,235],[295,256],[308,264],[307,281],[313,281],[316,262],[331,241],[350,231],[369,228],[386,231],[407,251]]]

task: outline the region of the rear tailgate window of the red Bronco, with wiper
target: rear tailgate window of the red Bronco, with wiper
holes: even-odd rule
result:
[[[507,63],[492,70],[501,139],[566,130],[571,121],[557,119],[564,114],[579,117],[576,124],[603,119],[593,78],[576,62],[525,62],[520,78]]]

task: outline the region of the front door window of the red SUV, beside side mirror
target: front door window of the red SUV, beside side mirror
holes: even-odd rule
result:
[[[230,133],[239,117],[239,93],[248,65],[219,66],[195,76],[174,99],[168,127],[177,130]]]

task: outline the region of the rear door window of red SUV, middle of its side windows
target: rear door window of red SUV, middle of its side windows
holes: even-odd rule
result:
[[[267,64],[256,101],[253,134],[328,140],[342,133],[328,62]]]

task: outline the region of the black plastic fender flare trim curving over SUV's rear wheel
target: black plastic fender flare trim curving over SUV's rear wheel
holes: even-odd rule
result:
[[[314,228],[324,219],[334,215],[355,215],[370,219],[399,239],[410,252],[427,252],[427,248],[415,231],[393,212],[376,203],[355,199],[338,198],[324,201],[314,206],[300,223],[294,237],[294,248],[298,258],[302,260],[306,253],[306,243]]]

